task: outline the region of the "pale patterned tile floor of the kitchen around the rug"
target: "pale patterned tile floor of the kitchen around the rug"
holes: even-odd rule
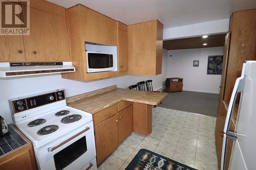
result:
[[[196,169],[217,170],[216,117],[161,107],[153,108],[153,132],[133,132],[98,169],[125,169],[142,148]]]

